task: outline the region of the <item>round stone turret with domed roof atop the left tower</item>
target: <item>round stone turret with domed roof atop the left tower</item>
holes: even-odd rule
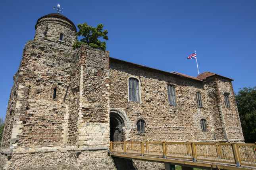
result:
[[[72,45],[77,39],[74,23],[59,13],[50,13],[39,18],[35,29],[35,40],[44,39]]]

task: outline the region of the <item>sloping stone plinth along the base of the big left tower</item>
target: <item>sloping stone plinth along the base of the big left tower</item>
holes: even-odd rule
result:
[[[108,151],[55,151],[13,153],[12,159],[0,155],[0,169],[5,170],[115,170]]]

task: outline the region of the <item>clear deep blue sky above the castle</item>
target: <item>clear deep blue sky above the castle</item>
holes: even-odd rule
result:
[[[235,92],[256,86],[256,0],[1,0],[0,117],[23,47],[57,3],[75,25],[104,24],[110,57],[196,76],[196,49],[201,73],[235,79]]]

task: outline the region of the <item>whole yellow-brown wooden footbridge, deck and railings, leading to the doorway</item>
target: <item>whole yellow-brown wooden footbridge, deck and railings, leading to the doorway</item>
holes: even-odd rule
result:
[[[110,155],[192,168],[256,169],[256,144],[110,142]]]

